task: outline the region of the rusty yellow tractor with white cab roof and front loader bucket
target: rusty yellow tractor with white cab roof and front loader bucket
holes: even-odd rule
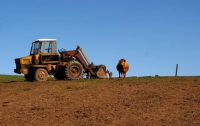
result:
[[[26,81],[46,81],[49,75],[57,80],[108,78],[106,66],[90,63],[83,49],[66,51],[56,48],[56,39],[38,39],[32,42],[30,55],[15,59],[15,73],[24,74]]]

